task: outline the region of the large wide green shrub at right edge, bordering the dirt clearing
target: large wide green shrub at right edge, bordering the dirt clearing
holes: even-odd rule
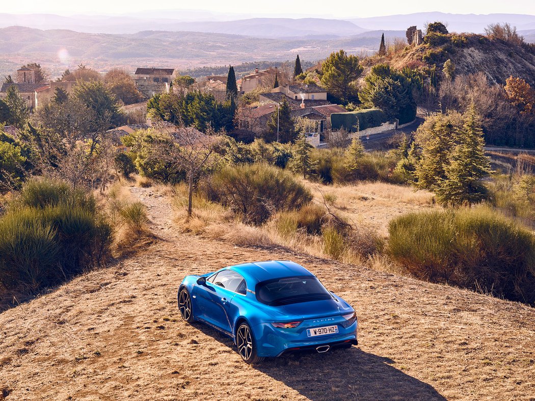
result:
[[[410,213],[389,235],[393,259],[420,279],[535,303],[535,237],[493,210]]]

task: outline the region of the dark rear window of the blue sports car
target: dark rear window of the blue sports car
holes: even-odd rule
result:
[[[332,298],[315,276],[282,277],[262,281],[256,284],[255,292],[256,299],[271,306]]]

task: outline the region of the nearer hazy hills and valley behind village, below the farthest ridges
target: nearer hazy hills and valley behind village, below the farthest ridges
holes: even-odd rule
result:
[[[348,23],[350,24],[350,23]],[[351,24],[352,25],[352,24]],[[83,63],[99,71],[112,67],[198,66],[240,64],[244,61],[318,60],[337,51],[375,51],[379,31],[348,38],[270,39],[244,35],[202,32],[144,30],[135,34],[88,34],[65,29],[41,30],[20,26],[0,29],[0,76],[13,74],[17,68],[36,61],[61,75],[65,68]],[[387,39],[403,32],[387,32]],[[68,57],[60,59],[58,51]]]

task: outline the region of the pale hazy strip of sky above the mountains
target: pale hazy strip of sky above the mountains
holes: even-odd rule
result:
[[[24,2],[2,2],[0,12],[5,13],[55,13],[55,14],[110,14],[140,12],[148,9],[152,2],[146,0],[27,0]],[[535,14],[533,0],[447,0],[444,2],[423,1],[357,1],[357,0],[158,0],[157,9],[207,10],[215,13],[233,13],[241,16],[314,16],[359,18],[392,14],[409,14],[423,11],[442,11],[449,13],[517,13]],[[151,10],[151,14],[156,9]],[[249,14],[249,15],[248,15]]]

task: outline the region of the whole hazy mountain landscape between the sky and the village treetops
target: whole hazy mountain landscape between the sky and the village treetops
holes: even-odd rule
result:
[[[219,16],[220,18],[221,16]],[[226,16],[225,18],[240,18]],[[409,26],[442,21],[450,32],[482,33],[492,22],[509,22],[535,42],[535,16],[523,14],[445,14],[426,12],[350,20],[249,18],[216,20],[209,12],[153,10],[120,16],[58,16],[0,13],[0,77],[37,62],[52,76],[83,63],[99,71],[113,66],[167,66],[181,69],[285,61],[316,61],[332,51],[377,51],[387,41],[405,38]]]

